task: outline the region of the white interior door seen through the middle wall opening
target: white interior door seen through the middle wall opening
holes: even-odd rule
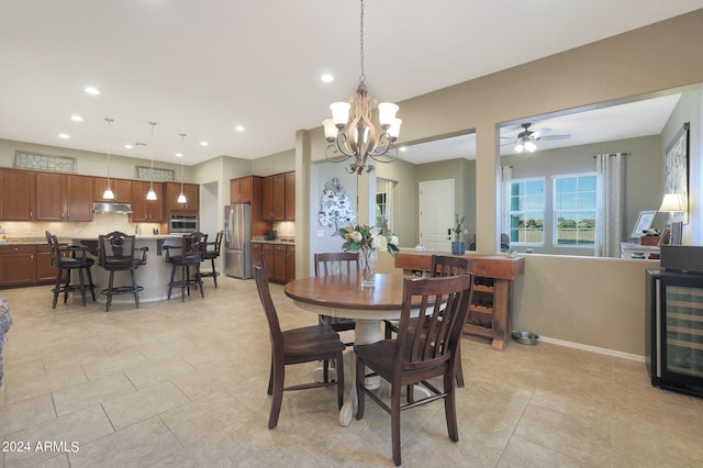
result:
[[[451,250],[454,179],[420,182],[420,243],[427,250]]]

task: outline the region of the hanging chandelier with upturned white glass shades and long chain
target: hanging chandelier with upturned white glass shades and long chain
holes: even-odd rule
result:
[[[393,143],[400,135],[402,123],[402,120],[395,118],[398,105],[392,102],[378,104],[380,130],[371,122],[372,105],[376,100],[369,94],[365,82],[364,0],[361,0],[360,52],[361,75],[356,93],[348,102],[330,104],[332,119],[325,119],[322,122],[325,138],[331,143],[325,151],[327,160],[342,163],[354,158],[354,161],[347,167],[347,171],[358,175],[365,170],[367,172],[373,170],[375,166],[370,164],[369,158],[378,163],[395,160],[398,151]],[[350,114],[349,111],[352,111]]]

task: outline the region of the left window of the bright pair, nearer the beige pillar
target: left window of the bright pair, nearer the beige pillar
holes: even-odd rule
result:
[[[511,244],[544,244],[545,179],[516,179],[511,182]]]

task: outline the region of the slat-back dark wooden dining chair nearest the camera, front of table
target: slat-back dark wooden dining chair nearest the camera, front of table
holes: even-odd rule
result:
[[[464,322],[473,291],[473,275],[442,278],[405,278],[403,304],[397,339],[354,346],[356,354],[356,419],[364,417],[368,395],[391,415],[391,445],[395,466],[401,464],[400,413],[403,410],[444,399],[449,438],[459,439],[455,398],[455,361]],[[417,319],[411,313],[419,312]],[[423,330],[423,333],[417,333]],[[371,371],[366,374],[366,369]],[[390,406],[366,388],[366,377],[380,376],[391,385]],[[428,382],[442,377],[443,388]],[[429,395],[401,405],[403,387],[422,385]]]

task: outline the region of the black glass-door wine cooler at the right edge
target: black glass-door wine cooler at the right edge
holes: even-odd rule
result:
[[[703,274],[647,271],[651,385],[703,397]]]

